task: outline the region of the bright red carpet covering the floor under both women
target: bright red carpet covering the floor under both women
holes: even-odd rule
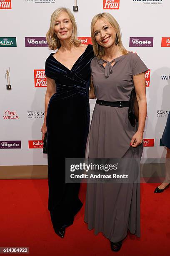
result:
[[[128,234],[116,255],[170,255],[170,187],[141,184],[141,238]],[[85,202],[86,185],[80,190]],[[110,242],[95,236],[83,221],[84,206],[66,229],[65,238],[53,231],[47,210],[47,179],[0,180],[0,247],[29,247],[30,256],[110,256]]]

